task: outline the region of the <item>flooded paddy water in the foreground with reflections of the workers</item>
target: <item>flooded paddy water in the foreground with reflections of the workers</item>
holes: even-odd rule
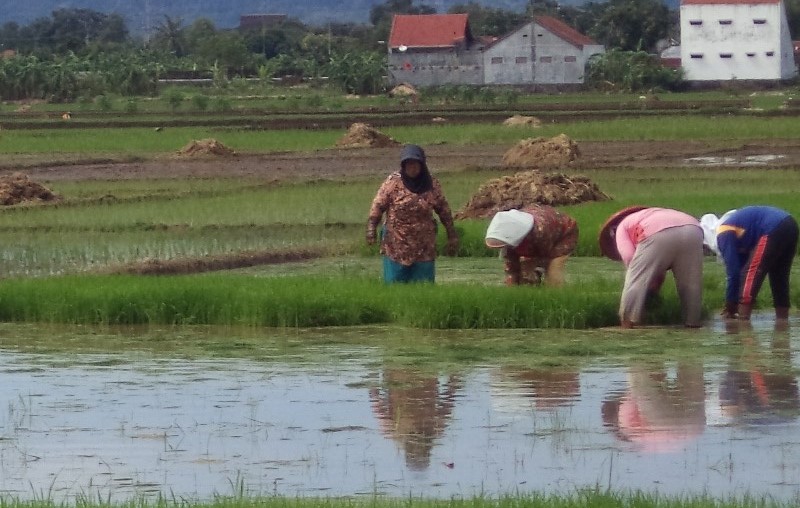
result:
[[[398,332],[379,328],[237,333],[0,326],[0,495],[800,500],[796,318],[635,330],[707,347],[573,361],[419,361],[389,351]],[[604,331],[402,333],[429,344]]]

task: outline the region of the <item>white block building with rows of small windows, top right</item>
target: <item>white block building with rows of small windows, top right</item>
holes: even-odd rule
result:
[[[688,81],[783,80],[797,74],[782,0],[682,0]]]

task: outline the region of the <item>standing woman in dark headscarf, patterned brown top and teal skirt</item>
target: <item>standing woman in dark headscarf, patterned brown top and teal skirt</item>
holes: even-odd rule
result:
[[[425,152],[406,145],[400,155],[400,171],[383,182],[369,211],[367,243],[373,245],[378,224],[381,231],[383,279],[393,282],[435,280],[436,229],[434,212],[447,231],[447,255],[458,251],[458,235],[450,205],[439,181],[428,171]]]

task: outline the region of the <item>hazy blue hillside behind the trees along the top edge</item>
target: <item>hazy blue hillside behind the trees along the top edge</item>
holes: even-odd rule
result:
[[[476,0],[494,8],[522,11],[530,0]],[[189,24],[197,18],[211,19],[217,28],[234,28],[241,14],[280,13],[309,24],[355,21],[367,23],[369,11],[383,0],[28,0],[17,3],[0,0],[0,23],[13,21],[29,24],[36,18],[47,17],[62,8],[91,9],[121,14],[131,32],[148,33],[163,22],[165,16],[180,18]],[[446,12],[451,6],[466,0],[418,0],[416,4],[435,7]]]

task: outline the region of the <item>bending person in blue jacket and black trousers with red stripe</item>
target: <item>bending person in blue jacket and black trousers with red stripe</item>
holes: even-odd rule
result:
[[[789,317],[789,275],[797,253],[797,221],[772,206],[746,206],[725,214],[709,245],[725,263],[724,317],[750,319],[769,276],[776,319]]]

